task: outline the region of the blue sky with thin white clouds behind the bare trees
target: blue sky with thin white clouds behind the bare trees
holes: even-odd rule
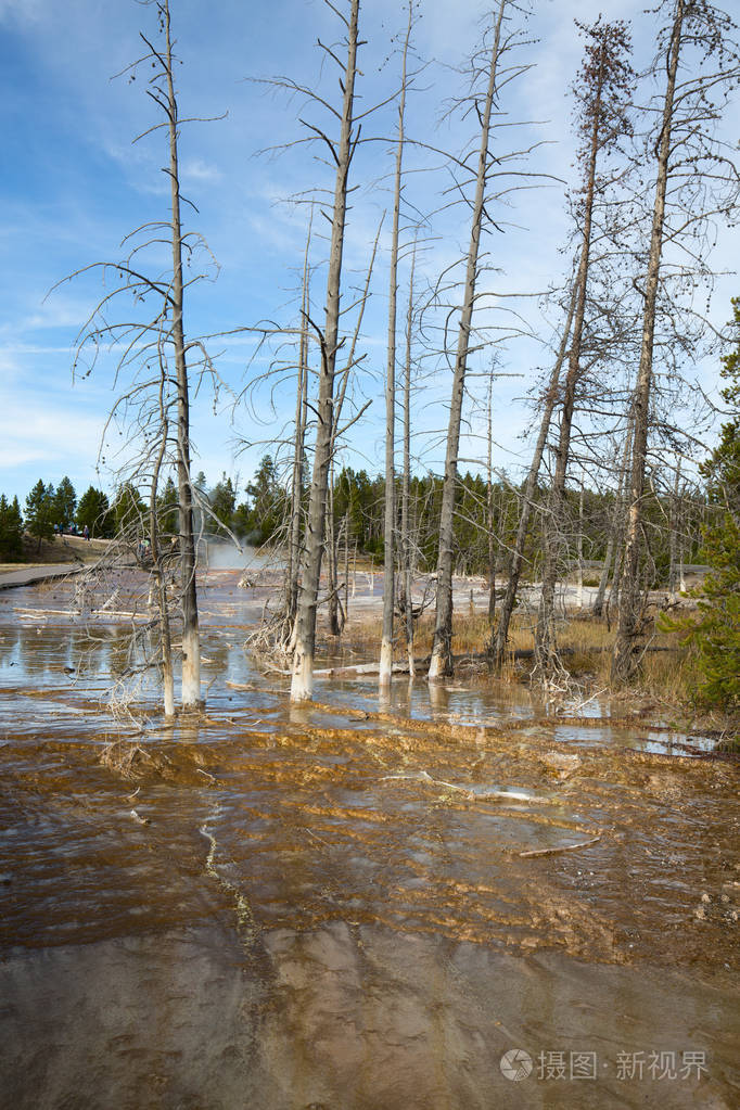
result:
[[[598,6],[607,18],[643,20],[642,3],[605,0]],[[415,31],[418,53],[435,59],[417,81],[409,98],[409,130],[426,141],[462,148],[467,124],[439,123],[444,100],[459,88],[450,69],[462,61],[476,41],[478,20],[487,6],[463,0],[425,0]],[[591,19],[597,7],[587,0],[538,0],[530,21],[538,41],[528,48],[535,63],[509,107],[511,119],[537,121],[528,130],[534,141],[547,140],[538,168],[570,179],[572,140],[567,84],[575,72],[580,42],[572,19]],[[363,19],[368,40],[361,65],[361,93],[369,104],[394,83],[395,60],[389,36],[403,29],[397,2],[366,3]],[[181,114],[201,117],[227,112],[221,122],[184,129],[181,143],[183,191],[197,204],[200,214],[191,226],[209,241],[217,259],[215,283],[202,285],[187,304],[190,334],[216,333],[270,319],[295,319],[295,289],[302,262],[306,226],[305,209],[285,199],[320,184],[331,184],[315,151],[305,147],[280,157],[257,157],[265,147],[290,143],[302,135],[297,115],[307,111],[302,98],[290,100],[254,79],[290,74],[313,83],[321,72],[316,38],[334,41],[338,34],[331,12],[320,0],[274,0],[245,4],[235,0],[172,0],[178,52]],[[132,138],[154,122],[143,83],[125,78],[111,81],[141,52],[139,30],[155,33],[153,11],[133,0],[0,0],[0,120],[2,125],[2,218],[0,252],[6,275],[0,303],[0,492],[21,500],[39,477],[58,482],[68,474],[78,493],[90,483],[110,490],[114,453],[103,448],[108,461],[97,472],[105,414],[115,396],[113,361],[101,359],[94,373],[72,385],[72,346],[75,333],[98,297],[93,275],[63,283],[70,274],[92,262],[119,256],[123,236],[146,220],[166,215],[168,182],[160,172],[164,152],[156,138],[133,145]],[[637,36],[641,49],[650,47],[649,23],[641,22]],[[524,57],[524,56],[523,56]],[[323,73],[323,91],[333,95],[331,74]],[[315,117],[310,117],[315,118]],[[366,134],[378,135],[393,128],[392,113],[368,121]],[[346,261],[351,280],[361,281],[368,243],[383,209],[388,204],[389,171],[384,143],[374,143],[357,160],[361,189],[353,198]],[[420,165],[422,163],[419,163]],[[429,161],[424,163],[427,167]],[[419,204],[439,203],[442,178],[409,178],[409,192]],[[507,213],[511,226],[495,244],[495,263],[501,273],[491,282],[505,290],[535,292],[557,281],[564,260],[559,253],[567,234],[564,186],[550,183],[537,194],[523,194]],[[386,228],[388,223],[386,221]],[[424,278],[433,275],[464,251],[467,228],[460,212],[440,216],[437,238],[419,262]],[[737,233],[736,233],[737,236]],[[356,383],[358,404],[372,401],[363,423],[351,434],[351,461],[372,472],[382,468],[379,440],[383,422],[381,375],[385,361],[387,235],[373,284],[361,349],[366,360]],[[722,241],[722,254],[738,253],[737,238]],[[321,258],[316,245],[315,261]],[[354,278],[353,278],[354,275]],[[315,278],[320,306],[322,273]],[[402,274],[404,296],[405,275]],[[712,314],[718,323],[729,315],[731,281],[716,294]],[[526,302],[523,302],[526,303]],[[548,326],[528,302],[529,326],[549,339]],[[293,411],[290,390],[278,390],[274,410],[260,394],[256,412],[243,403],[229,403],[267,369],[263,351],[251,361],[254,341],[249,334],[214,340],[219,372],[226,391],[215,404],[204,387],[193,406],[195,470],[211,483],[225,471],[247,481],[264,442],[275,434]],[[514,344],[505,355],[501,379],[495,391],[497,464],[516,468],[527,456],[517,438],[528,420],[518,400],[533,384],[533,366],[545,364],[546,354],[531,344]],[[483,365],[483,363],[481,363]],[[704,371],[711,387],[713,369]],[[428,366],[424,394],[419,396],[414,430],[415,447],[425,465],[439,465],[437,431],[446,423],[444,404],[448,380],[439,367]],[[244,448],[244,443],[252,444]],[[475,454],[473,441],[467,448]]]

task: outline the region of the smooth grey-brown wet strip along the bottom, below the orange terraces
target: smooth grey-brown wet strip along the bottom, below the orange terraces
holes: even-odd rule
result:
[[[732,1012],[719,985],[384,929],[272,932],[251,960],[217,929],[111,939],[50,950],[43,971],[19,952],[0,981],[3,1091],[20,1110],[729,1110],[739,1078],[737,1009],[717,1022]],[[533,1061],[516,1083],[500,1068],[511,1049]],[[651,1052],[672,1053],[672,1079],[651,1078]],[[681,1072],[687,1052],[700,1079]],[[570,1079],[571,1053],[594,1078]],[[628,1053],[641,1079],[620,1072]]]

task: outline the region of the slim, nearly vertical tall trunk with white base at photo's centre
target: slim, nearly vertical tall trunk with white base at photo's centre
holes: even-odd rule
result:
[[[406,109],[406,58],[412,33],[413,3],[408,3],[408,23],[402,60],[401,95],[398,101],[398,142],[393,190],[393,231],[391,236],[391,273],[388,295],[388,360],[385,381],[385,533],[383,543],[383,635],[378,682],[385,686],[393,674],[393,613],[395,606],[394,532],[395,507],[395,422],[396,422],[396,297],[398,293],[398,221],[401,216],[401,173],[404,157],[404,112]]]

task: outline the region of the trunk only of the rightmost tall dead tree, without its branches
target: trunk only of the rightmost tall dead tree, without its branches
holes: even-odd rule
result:
[[[663,101],[662,128],[658,145],[656,195],[650,233],[650,254],[645,282],[645,309],[642,314],[642,343],[640,365],[632,397],[632,465],[629,490],[629,511],[625,536],[622,583],[619,593],[619,620],[611,660],[612,682],[627,682],[633,673],[632,647],[639,634],[640,584],[639,558],[642,531],[642,495],[645,493],[645,470],[648,452],[648,425],[650,417],[650,390],[652,385],[652,349],[656,329],[656,305],[658,279],[662,253],[663,228],[666,222],[666,191],[668,188],[668,163],[671,154],[671,125],[673,121],[673,99],[676,74],[678,72],[683,18],[687,0],[676,0],[676,16],[666,59],[667,84]]]

